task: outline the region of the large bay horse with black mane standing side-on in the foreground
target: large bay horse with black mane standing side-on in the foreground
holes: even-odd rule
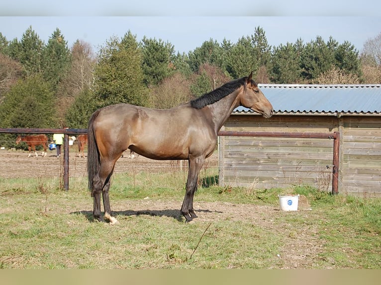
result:
[[[181,213],[186,222],[197,215],[193,196],[205,158],[216,146],[217,134],[231,112],[242,105],[265,118],[273,115],[273,106],[249,76],[232,80],[188,103],[171,109],[151,109],[130,104],[116,104],[96,110],[88,126],[89,190],[94,198],[93,216],[117,223],[110,209],[108,191],[115,162],[123,151],[157,160],[188,160],[189,172]]]

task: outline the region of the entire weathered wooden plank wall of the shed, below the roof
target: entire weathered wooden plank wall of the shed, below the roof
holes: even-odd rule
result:
[[[381,196],[381,117],[232,115],[223,130],[340,131],[339,193]],[[220,137],[219,181],[258,189],[307,184],[331,191],[332,157],[328,139]]]

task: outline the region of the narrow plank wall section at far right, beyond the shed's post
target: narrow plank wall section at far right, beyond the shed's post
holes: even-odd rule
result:
[[[381,117],[343,117],[341,191],[381,196]]]

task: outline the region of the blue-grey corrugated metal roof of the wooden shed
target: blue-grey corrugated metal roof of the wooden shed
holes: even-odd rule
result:
[[[381,84],[258,84],[276,113],[381,114]],[[242,106],[233,113],[248,113]]]

